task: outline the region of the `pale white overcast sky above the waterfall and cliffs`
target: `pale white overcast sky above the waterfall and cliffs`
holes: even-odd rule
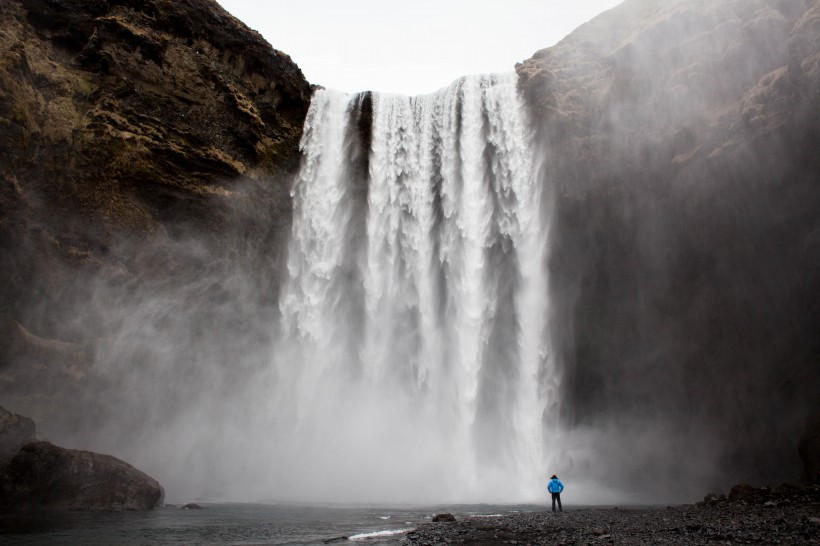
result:
[[[508,72],[622,0],[218,0],[310,83],[419,95]]]

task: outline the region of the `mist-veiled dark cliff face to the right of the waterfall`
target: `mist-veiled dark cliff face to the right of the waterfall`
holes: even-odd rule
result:
[[[613,431],[611,466],[576,466],[635,489],[670,467],[714,487],[799,476],[820,379],[820,3],[628,0],[517,70],[554,188],[558,405]]]

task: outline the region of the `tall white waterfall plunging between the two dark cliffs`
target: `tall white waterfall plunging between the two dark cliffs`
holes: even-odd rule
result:
[[[318,90],[301,148],[271,387],[277,486],[538,499],[547,222],[515,74],[417,97]]]

